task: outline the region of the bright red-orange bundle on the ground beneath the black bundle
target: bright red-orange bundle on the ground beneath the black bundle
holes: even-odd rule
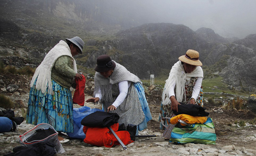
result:
[[[119,127],[118,123],[111,126],[114,132],[116,132],[119,139],[123,144],[127,145],[133,142],[130,139],[130,133],[128,131],[117,131]],[[84,142],[95,146],[112,147],[113,145],[120,145],[114,135],[110,132],[107,127],[87,127],[83,128],[86,137]]]

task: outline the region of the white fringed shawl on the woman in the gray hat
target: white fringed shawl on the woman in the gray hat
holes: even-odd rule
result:
[[[30,87],[33,87],[36,81],[36,89],[44,93],[48,87],[48,94],[53,94],[51,73],[55,61],[60,56],[69,56],[73,59],[74,71],[77,73],[76,62],[73,58],[70,48],[65,41],[61,40],[57,45],[55,45],[46,55],[42,63],[37,67],[34,76],[31,80]]]

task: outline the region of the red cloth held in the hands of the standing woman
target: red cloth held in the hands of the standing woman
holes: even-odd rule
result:
[[[79,104],[80,106],[84,106],[85,96],[84,96],[84,88],[85,88],[85,76],[82,75],[82,80],[76,79],[76,91],[73,96],[73,103]]]

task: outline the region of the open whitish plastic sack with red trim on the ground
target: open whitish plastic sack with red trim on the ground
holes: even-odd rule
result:
[[[19,143],[29,147],[35,143],[53,143],[58,154],[64,153],[65,150],[58,140],[58,132],[48,123],[41,123],[31,130],[19,136]]]

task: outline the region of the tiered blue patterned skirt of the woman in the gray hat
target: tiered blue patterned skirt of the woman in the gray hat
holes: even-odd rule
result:
[[[36,83],[36,82],[35,82]],[[30,89],[27,123],[48,123],[58,132],[73,133],[73,100],[70,89],[52,79],[53,95],[42,93],[34,86]]]

